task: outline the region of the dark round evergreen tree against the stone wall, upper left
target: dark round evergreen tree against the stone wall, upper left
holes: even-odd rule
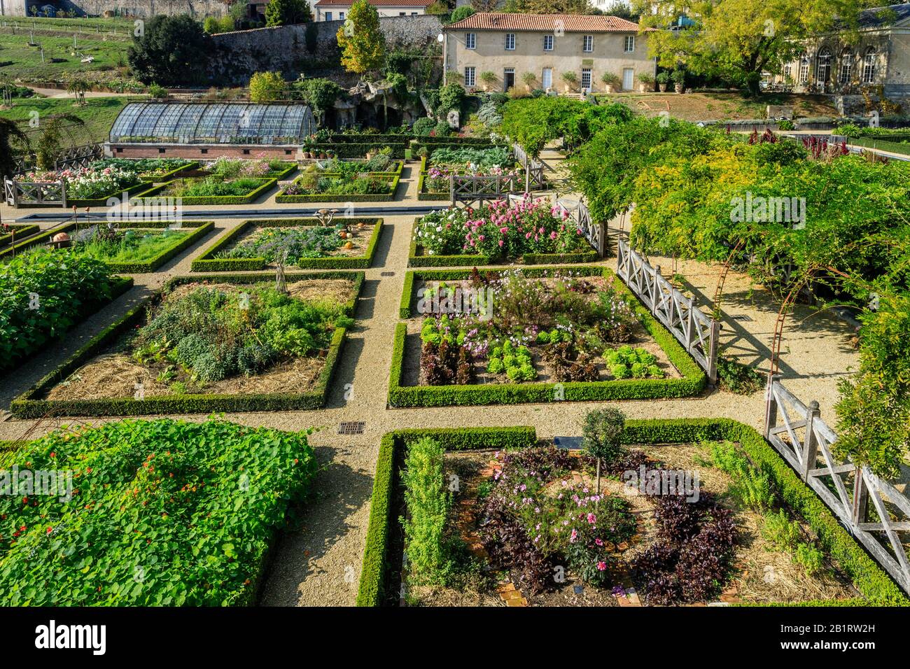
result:
[[[145,84],[194,84],[205,75],[209,39],[191,16],[157,15],[146,22],[142,36],[133,37],[127,58]]]

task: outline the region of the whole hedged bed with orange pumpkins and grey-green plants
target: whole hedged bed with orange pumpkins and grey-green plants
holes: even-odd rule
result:
[[[344,228],[346,238],[340,238]],[[367,269],[381,232],[382,218],[336,219],[331,228],[319,227],[316,218],[248,220],[193,260],[191,269],[266,269],[274,264],[276,250],[286,245],[288,265],[301,269]]]

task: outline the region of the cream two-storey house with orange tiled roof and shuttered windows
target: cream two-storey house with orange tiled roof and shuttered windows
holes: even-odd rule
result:
[[[443,26],[442,34],[443,69],[457,72],[469,91],[529,86],[598,92],[607,72],[632,90],[639,75],[654,76],[657,67],[648,57],[648,33],[616,16],[479,12]],[[563,77],[568,72],[573,84]]]

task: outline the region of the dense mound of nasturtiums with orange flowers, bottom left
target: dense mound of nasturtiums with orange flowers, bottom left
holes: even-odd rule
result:
[[[317,471],[305,433],[218,420],[70,427],[0,457],[77,481],[71,503],[0,499],[0,596],[32,606],[255,604]]]

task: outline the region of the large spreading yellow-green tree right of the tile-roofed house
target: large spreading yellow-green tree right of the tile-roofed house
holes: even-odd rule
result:
[[[640,24],[660,28],[648,48],[660,65],[684,65],[759,92],[763,71],[777,72],[802,50],[801,40],[832,29],[839,19],[855,25],[864,0],[636,0]],[[687,25],[679,25],[686,16]],[[665,30],[676,25],[675,30]]]

